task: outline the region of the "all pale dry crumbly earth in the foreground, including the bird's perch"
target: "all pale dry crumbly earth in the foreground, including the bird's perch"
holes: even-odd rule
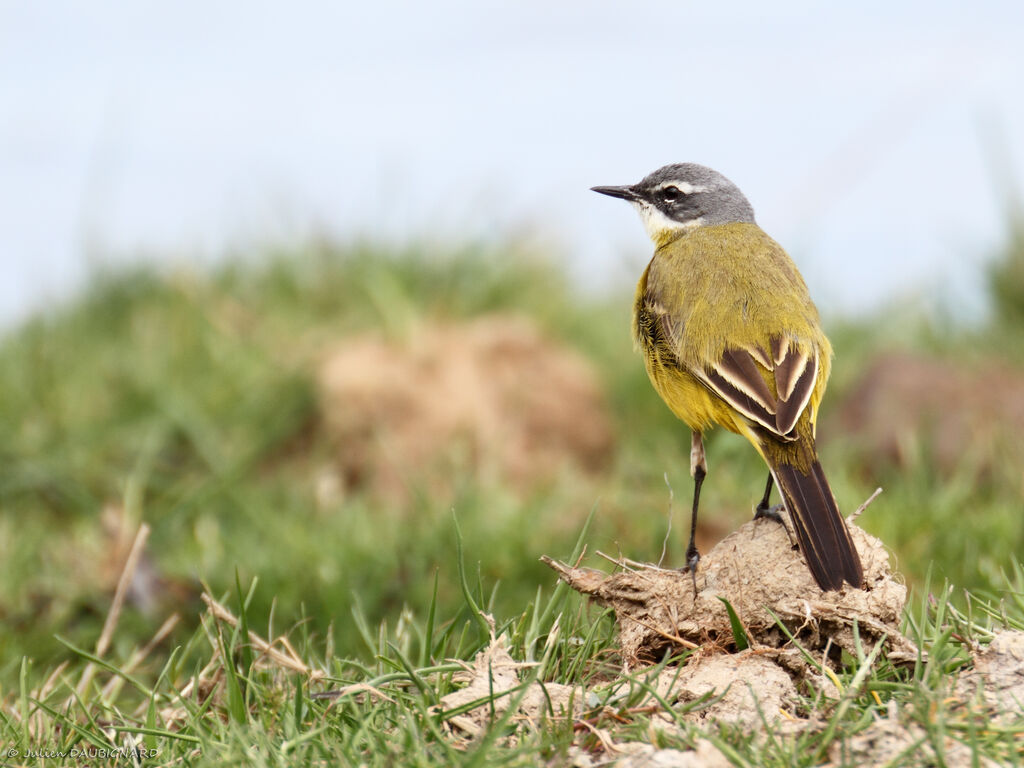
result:
[[[616,686],[649,691],[640,709],[651,708],[650,727],[655,731],[681,736],[680,722],[701,726],[709,734],[717,733],[719,725],[730,725],[755,738],[764,737],[767,728],[775,736],[822,730],[822,712],[834,712],[859,695],[857,678],[840,689],[831,674],[841,649],[854,657],[867,655],[865,675],[883,654],[897,665],[918,657],[913,643],[900,633],[906,590],[891,571],[887,551],[878,539],[855,524],[850,527],[863,560],[864,590],[822,593],[782,528],[771,522],[748,523],[711,550],[701,560],[696,594],[688,573],[628,561],[618,561],[615,572],[608,573],[544,558],[560,579],[614,610],[622,676],[591,689],[529,682],[532,666],[516,663],[500,640],[493,641],[467,669],[466,687],[445,696],[441,708],[467,705],[490,691],[510,695],[453,719],[453,735],[470,739],[514,706],[513,719],[520,727],[536,727],[546,718],[571,718],[578,731],[587,731],[588,739],[577,742],[584,745],[570,751],[574,768],[730,765],[712,740],[700,737],[692,750],[623,739],[614,723],[623,722],[624,713],[601,705]],[[743,625],[749,642],[743,650],[736,648],[723,599]],[[682,666],[650,666],[667,651],[681,650],[692,651]],[[958,679],[950,679],[944,703],[965,713],[987,710],[996,722],[1019,718],[1024,633],[996,633],[990,644],[974,647],[971,655],[973,665]],[[822,709],[812,709],[812,701]],[[891,702],[885,717],[837,739],[822,755],[827,761],[822,764],[972,764],[970,748],[951,735],[928,734],[908,709]],[[688,736],[693,739],[692,732]],[[984,757],[976,764],[994,765]]]

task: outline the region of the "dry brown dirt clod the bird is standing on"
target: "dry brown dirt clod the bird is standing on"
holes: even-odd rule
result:
[[[785,531],[771,521],[749,522],[706,554],[695,595],[689,573],[678,570],[628,566],[602,573],[544,559],[569,586],[614,609],[627,667],[658,662],[667,651],[734,649],[723,601],[756,649],[790,644],[777,616],[811,652],[842,648],[856,655],[856,623],[860,648],[885,638],[890,659],[911,659],[916,649],[899,632],[906,587],[894,579],[882,542],[855,524],[850,532],[864,567],[863,590],[822,592]]]

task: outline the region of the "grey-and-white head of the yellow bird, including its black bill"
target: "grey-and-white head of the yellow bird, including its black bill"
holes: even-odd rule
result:
[[[633,203],[655,240],[665,230],[754,223],[754,208],[739,187],[718,171],[696,163],[667,165],[629,186],[592,188]]]

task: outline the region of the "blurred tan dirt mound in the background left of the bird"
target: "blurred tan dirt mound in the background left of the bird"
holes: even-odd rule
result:
[[[521,317],[347,339],[318,375],[346,488],[443,493],[453,469],[512,487],[606,466],[612,434],[592,366]]]

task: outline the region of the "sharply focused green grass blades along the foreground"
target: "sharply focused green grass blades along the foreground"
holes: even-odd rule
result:
[[[999,765],[1024,763],[1020,713],[995,724],[949,695],[949,675],[965,666],[972,644],[984,644],[999,627],[1024,628],[1019,563],[1006,585],[1016,598],[1001,605],[972,600],[966,613],[949,601],[951,590],[928,592],[908,607],[905,623],[926,653],[916,664],[895,666],[880,655],[881,645],[865,648],[833,675],[838,697],[808,692],[804,708],[817,722],[767,737],[695,725],[685,715],[713,699],[672,708],[648,682],[650,670],[622,675],[608,616],[563,586],[540,590],[522,613],[496,620],[480,608],[489,596],[462,577],[464,603],[452,615],[439,612],[436,597],[424,614],[404,611],[379,627],[354,608],[361,658],[339,655],[330,635],[317,637],[305,624],[279,635],[272,621],[257,623],[250,614],[255,584],[237,585],[230,608],[207,596],[214,609],[201,629],[144,672],[67,643],[73,660],[59,674],[23,663],[0,738],[12,762],[27,764],[47,751],[53,760],[67,756],[67,764],[103,756],[129,764],[134,751],[160,765],[561,765],[573,745],[600,753],[609,742],[685,750],[703,741],[737,766],[813,766],[829,755],[852,766],[861,763],[843,758],[847,739],[895,714],[932,745],[936,765],[958,764],[951,752],[957,743]],[[472,659],[495,638],[527,663],[521,685],[445,707],[443,696],[461,687],[458,659]],[[85,685],[71,674],[83,662],[99,668]],[[512,718],[516,697],[534,681],[583,686],[582,712]],[[504,713],[503,699],[512,702]],[[480,734],[468,736],[458,719],[473,707],[492,714]],[[892,764],[922,764],[921,749],[911,740],[906,760]]]

